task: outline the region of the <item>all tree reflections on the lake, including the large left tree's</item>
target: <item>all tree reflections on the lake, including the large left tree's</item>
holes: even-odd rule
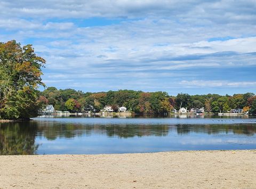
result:
[[[55,141],[58,138],[98,137],[132,138],[143,136],[165,137],[169,133],[176,135],[244,135],[254,136],[255,124],[219,124],[219,125],[168,125],[168,124],[86,124],[65,121],[30,121],[0,123],[0,154],[36,154],[36,138]]]

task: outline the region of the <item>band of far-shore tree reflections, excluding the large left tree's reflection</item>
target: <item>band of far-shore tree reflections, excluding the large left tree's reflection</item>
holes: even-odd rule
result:
[[[256,127],[250,124],[238,125],[132,125],[132,124],[105,124],[83,125],[46,122],[38,124],[37,136],[43,136],[49,140],[57,138],[74,138],[90,136],[92,134],[105,135],[107,137],[128,138],[135,136],[166,136],[169,132],[177,132],[178,135],[201,133],[207,135],[233,133],[237,135],[253,136]]]

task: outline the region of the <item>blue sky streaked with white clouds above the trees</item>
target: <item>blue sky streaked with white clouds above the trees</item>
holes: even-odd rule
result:
[[[256,0],[1,0],[0,42],[33,44],[47,87],[256,93],[255,10]]]

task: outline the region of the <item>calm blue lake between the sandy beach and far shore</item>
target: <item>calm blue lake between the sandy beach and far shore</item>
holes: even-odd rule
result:
[[[38,117],[0,123],[0,154],[256,149],[253,117]]]

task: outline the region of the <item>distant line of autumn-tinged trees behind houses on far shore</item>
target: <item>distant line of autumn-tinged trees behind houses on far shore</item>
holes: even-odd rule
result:
[[[243,109],[255,114],[256,96],[253,93],[234,95],[189,95],[180,93],[170,96],[166,92],[142,92],[132,90],[108,91],[90,93],[74,89],[57,89],[48,87],[39,92],[42,104],[51,104],[55,110],[81,112],[86,106],[92,105],[96,112],[106,105],[112,106],[114,111],[125,106],[127,110],[138,114],[170,113],[180,106],[187,108],[205,108],[207,112],[228,112],[231,109]]]

